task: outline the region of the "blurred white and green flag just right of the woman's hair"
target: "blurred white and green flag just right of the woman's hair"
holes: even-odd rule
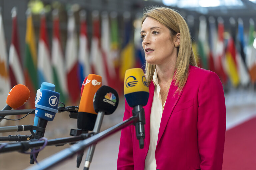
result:
[[[208,69],[208,42],[207,42],[207,23],[204,16],[199,17],[199,33],[198,33],[198,54],[200,56],[200,67]]]

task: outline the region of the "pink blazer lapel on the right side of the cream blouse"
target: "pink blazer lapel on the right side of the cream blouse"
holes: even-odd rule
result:
[[[178,87],[175,86],[175,81],[172,81],[169,92],[168,92],[168,96],[166,99],[165,107],[163,110],[162,118],[161,118],[160,128],[159,128],[159,132],[158,132],[157,145],[164,133],[164,130],[165,130],[167,123],[170,119],[170,116],[172,114],[172,111],[182,94],[182,91],[181,91],[180,93],[176,93],[175,95],[173,95],[175,93],[175,91],[177,90],[177,88]],[[156,147],[157,147],[157,145],[156,145]]]

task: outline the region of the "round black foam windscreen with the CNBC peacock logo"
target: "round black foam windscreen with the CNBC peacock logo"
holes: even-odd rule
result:
[[[96,92],[93,99],[95,112],[103,111],[105,115],[112,114],[118,106],[118,93],[109,86],[102,86]]]

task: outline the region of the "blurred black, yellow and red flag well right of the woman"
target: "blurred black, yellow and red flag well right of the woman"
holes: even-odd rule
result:
[[[239,84],[239,73],[238,73],[238,63],[236,60],[236,46],[235,46],[235,20],[230,18],[231,25],[231,36],[228,39],[227,49],[226,49],[226,59],[228,65],[228,75],[231,83],[234,87]]]

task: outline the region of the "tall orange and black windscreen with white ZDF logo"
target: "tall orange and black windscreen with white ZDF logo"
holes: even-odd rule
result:
[[[89,74],[79,104],[77,128],[83,130],[93,130],[97,118],[97,113],[93,108],[93,98],[100,87],[101,76]]]

